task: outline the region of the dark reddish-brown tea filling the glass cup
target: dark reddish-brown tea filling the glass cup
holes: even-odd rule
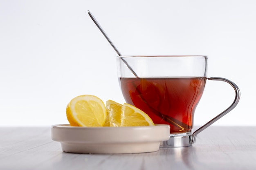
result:
[[[171,133],[190,132],[206,77],[120,78],[127,103],[143,110],[155,124],[169,124]]]

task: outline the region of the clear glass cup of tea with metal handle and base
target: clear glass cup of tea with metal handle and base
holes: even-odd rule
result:
[[[239,88],[221,77],[207,77],[207,56],[118,56],[117,72],[127,103],[143,110],[155,124],[170,125],[170,139],[162,147],[191,146],[196,135],[232,110]],[[229,83],[234,102],[193,135],[193,117],[207,79]]]

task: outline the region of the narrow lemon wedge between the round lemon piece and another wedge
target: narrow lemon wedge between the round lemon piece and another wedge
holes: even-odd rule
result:
[[[119,127],[121,126],[121,108],[123,105],[114,102],[112,100],[108,100],[106,102],[106,108],[109,117],[109,124],[111,127]]]

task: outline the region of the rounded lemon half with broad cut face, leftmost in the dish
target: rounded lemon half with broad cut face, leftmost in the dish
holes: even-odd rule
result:
[[[106,121],[107,111],[99,97],[81,95],[70,101],[66,114],[70,126],[100,127]]]

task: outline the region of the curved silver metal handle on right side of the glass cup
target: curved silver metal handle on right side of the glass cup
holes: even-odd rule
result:
[[[196,136],[198,135],[198,133],[202,132],[204,129],[208,128],[211,124],[216,122],[218,119],[222,118],[224,115],[229,113],[233,108],[236,107],[236,105],[238,104],[239,99],[240,99],[240,90],[234,82],[231,82],[230,80],[222,78],[222,77],[207,77],[207,79],[209,79],[209,80],[218,80],[218,81],[223,81],[223,82],[229,83],[234,88],[235,93],[236,93],[236,97],[234,99],[234,102],[226,110],[224,110],[222,113],[220,113],[219,115],[217,115],[216,117],[214,117],[213,119],[208,121],[206,124],[204,124],[202,127],[198,128],[198,130],[196,130],[193,133],[193,135],[191,137],[191,141],[190,141],[191,144],[195,144],[195,139],[196,139]]]

